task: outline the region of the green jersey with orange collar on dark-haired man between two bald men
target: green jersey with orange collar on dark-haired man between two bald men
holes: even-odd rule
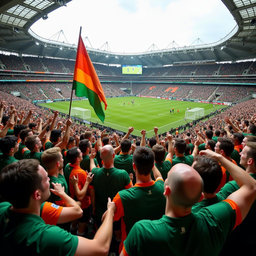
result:
[[[148,183],[136,183],[133,188],[121,190],[116,194],[113,199],[116,205],[114,220],[121,219],[122,230],[119,253],[123,248],[124,240],[137,221],[156,220],[164,215],[166,199],[163,193],[164,181],[157,179]]]

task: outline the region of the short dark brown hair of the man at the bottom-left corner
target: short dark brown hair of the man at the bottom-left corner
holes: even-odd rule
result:
[[[38,170],[39,161],[36,159],[23,159],[4,167],[0,173],[1,197],[15,208],[28,207],[34,191],[42,190],[42,177]]]

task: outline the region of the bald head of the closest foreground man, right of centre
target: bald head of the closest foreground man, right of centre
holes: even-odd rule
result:
[[[165,185],[174,205],[191,207],[201,198],[204,183],[198,172],[186,164],[176,164],[168,172]]]

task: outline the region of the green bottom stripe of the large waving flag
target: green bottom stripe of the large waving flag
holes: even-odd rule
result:
[[[105,113],[101,106],[101,102],[100,102],[98,94],[95,93],[94,91],[90,90],[89,88],[87,88],[85,84],[80,83],[76,80],[73,81],[72,89],[76,90],[75,94],[77,97],[87,97],[88,98],[89,103],[93,107],[95,114],[102,121],[102,123],[104,123]]]

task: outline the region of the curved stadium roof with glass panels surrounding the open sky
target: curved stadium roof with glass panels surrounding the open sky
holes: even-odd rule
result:
[[[45,39],[30,26],[71,0],[1,1],[0,49],[38,56],[74,59],[76,45]],[[221,40],[204,45],[173,47],[140,53],[117,53],[87,47],[93,62],[113,64],[168,65],[197,61],[236,61],[256,57],[256,0],[221,0],[237,22],[236,27]],[[38,44],[36,44],[36,42]],[[172,45],[174,46],[174,45]]]

